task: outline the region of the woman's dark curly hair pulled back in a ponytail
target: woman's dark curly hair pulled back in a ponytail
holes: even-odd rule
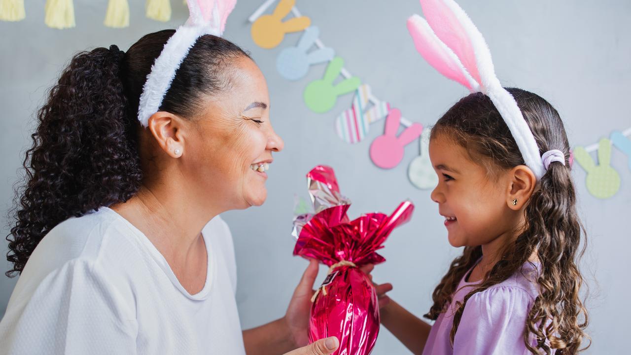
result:
[[[63,220],[125,202],[141,186],[138,104],[144,81],[175,30],[145,35],[124,53],[112,45],[80,52],[37,113],[33,145],[16,189],[7,260],[21,274],[44,236]],[[177,70],[160,111],[192,119],[202,98],[225,90],[230,65],[249,57],[213,35],[200,37]]]

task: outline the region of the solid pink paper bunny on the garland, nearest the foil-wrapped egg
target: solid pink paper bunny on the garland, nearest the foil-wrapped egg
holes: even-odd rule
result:
[[[392,169],[403,160],[404,147],[418,138],[423,132],[423,125],[413,123],[397,136],[401,124],[401,111],[391,109],[386,117],[384,135],[378,136],[370,145],[370,159],[382,169]]]

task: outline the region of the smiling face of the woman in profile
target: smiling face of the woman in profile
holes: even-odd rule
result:
[[[188,158],[187,180],[222,210],[261,205],[272,152],[283,149],[269,119],[261,70],[245,56],[229,70],[227,89],[206,99],[201,117],[190,121],[194,127],[182,155]]]

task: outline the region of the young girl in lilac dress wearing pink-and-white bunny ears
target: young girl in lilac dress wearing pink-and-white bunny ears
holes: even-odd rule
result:
[[[430,327],[391,302],[382,323],[415,354],[575,354],[587,311],[577,268],[582,226],[558,112],[499,85],[490,52],[452,0],[422,0],[408,28],[440,73],[473,93],[430,136],[432,200],[464,247],[433,292]]]

